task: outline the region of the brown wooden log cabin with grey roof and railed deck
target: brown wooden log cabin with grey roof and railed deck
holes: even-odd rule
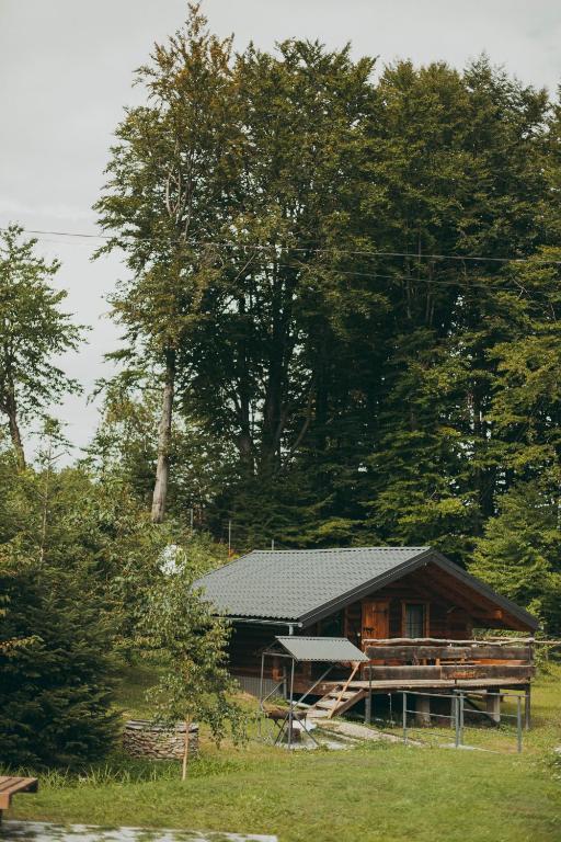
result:
[[[533,634],[538,621],[431,547],[253,550],[196,582],[233,630],[229,669],[253,694],[274,690],[284,664],[261,652],[282,635],[345,637],[368,656],[346,707],[374,693],[450,687],[525,690],[534,672],[531,644],[478,642],[476,629]],[[297,668],[306,693],[323,664]],[[316,692],[336,695],[343,667]],[[345,687],[346,689],[346,687]],[[348,693],[346,695],[350,695]],[[529,713],[528,713],[529,716]]]

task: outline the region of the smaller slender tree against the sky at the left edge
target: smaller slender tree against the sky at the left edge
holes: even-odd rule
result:
[[[50,286],[59,262],[38,257],[36,242],[24,239],[18,225],[0,235],[0,412],[21,467],[22,424],[41,417],[65,392],[80,390],[54,357],[76,350],[82,329],[60,310],[66,292]]]

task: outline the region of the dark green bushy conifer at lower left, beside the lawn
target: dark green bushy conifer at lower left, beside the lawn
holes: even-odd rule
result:
[[[0,589],[9,601],[0,617],[2,762],[37,769],[104,756],[117,730],[111,637],[87,582],[4,547]]]

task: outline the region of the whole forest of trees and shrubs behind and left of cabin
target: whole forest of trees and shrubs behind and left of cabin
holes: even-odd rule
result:
[[[560,102],[486,56],[237,53],[196,5],[137,82],[95,205],[98,258],[126,265],[116,374],[72,464],[53,407],[80,386],[56,360],[87,326],[23,227],[0,237],[5,674],[54,674],[55,638],[84,686],[127,658],[175,545],[203,567],[271,542],[431,545],[559,634]],[[77,753],[114,727],[96,692]]]

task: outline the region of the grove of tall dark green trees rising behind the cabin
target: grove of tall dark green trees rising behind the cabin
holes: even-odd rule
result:
[[[485,57],[234,55],[197,8],[139,80],[98,203],[130,269],[104,434],[147,500],[158,463],[154,520],[169,489],[175,516],[231,520],[237,549],[430,543],[485,576],[510,569],[496,535],[517,499],[557,530],[547,93]],[[541,544],[542,594],[560,556]]]

